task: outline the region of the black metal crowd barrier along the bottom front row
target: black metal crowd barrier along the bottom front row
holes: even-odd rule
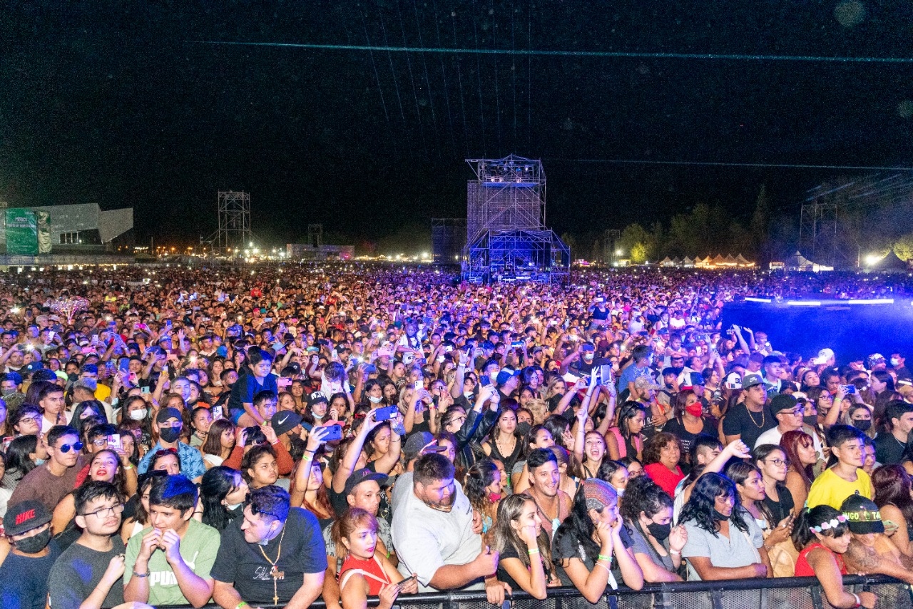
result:
[[[851,592],[876,593],[876,607],[913,609],[913,592],[907,583],[880,575],[846,575],[844,586]],[[484,592],[402,594],[396,604],[404,609],[494,609]],[[252,606],[254,606],[252,604]],[[272,605],[261,604],[263,609]],[[322,601],[310,605],[325,609]],[[369,607],[377,599],[368,600]],[[584,599],[576,588],[550,588],[544,601],[527,593],[515,592],[513,598],[497,609],[831,609],[814,577],[721,580],[716,582],[647,583],[642,590],[619,588],[596,604]],[[217,609],[208,604],[205,609]]]

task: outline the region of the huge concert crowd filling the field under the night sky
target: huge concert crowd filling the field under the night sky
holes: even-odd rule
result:
[[[0,606],[913,583],[913,381],[723,328],[906,275],[119,268],[0,278]],[[76,298],[84,298],[74,306]],[[865,340],[861,338],[860,340]],[[378,597],[374,599],[373,597]]]

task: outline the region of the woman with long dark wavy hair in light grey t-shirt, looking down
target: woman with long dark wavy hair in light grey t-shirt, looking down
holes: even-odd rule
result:
[[[764,536],[740,505],[732,480],[716,472],[698,478],[678,518],[687,530],[682,557],[688,581],[768,577]]]

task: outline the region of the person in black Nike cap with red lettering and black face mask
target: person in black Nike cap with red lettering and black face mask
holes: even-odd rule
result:
[[[0,566],[0,606],[43,609],[47,576],[60,549],[51,541],[51,512],[36,500],[16,503],[3,519],[13,550]]]

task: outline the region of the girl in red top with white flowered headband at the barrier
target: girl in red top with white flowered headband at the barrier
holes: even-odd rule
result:
[[[875,594],[844,589],[846,567],[842,555],[849,549],[851,539],[844,514],[828,505],[803,509],[792,532],[792,543],[799,550],[795,575],[817,577],[832,607],[872,609],[877,600]]]

